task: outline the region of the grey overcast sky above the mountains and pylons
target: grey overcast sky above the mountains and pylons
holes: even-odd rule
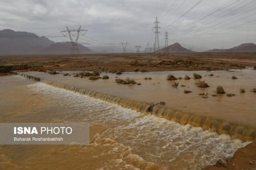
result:
[[[193,6],[195,8],[191,9]],[[225,6],[228,7],[221,9]],[[203,18],[218,9],[221,10]],[[116,45],[120,41],[128,41],[130,48],[134,48],[134,45],[145,47],[148,41],[153,46],[152,27],[156,16],[160,21],[161,46],[164,46],[165,31],[170,33],[169,44],[179,42],[209,48],[229,48],[245,42],[256,43],[255,0],[0,1],[0,30],[58,36],[66,26],[77,29],[81,25],[89,30],[86,35],[93,39]],[[250,23],[242,25],[246,22]],[[242,26],[237,27],[239,25]],[[85,43],[87,39],[82,37],[80,42]],[[93,41],[90,41],[89,46],[93,45]]]

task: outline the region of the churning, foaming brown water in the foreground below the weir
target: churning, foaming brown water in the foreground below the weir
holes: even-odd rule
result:
[[[0,169],[201,169],[248,144],[19,76],[0,78],[0,108],[1,122],[89,122],[91,138],[1,145]]]

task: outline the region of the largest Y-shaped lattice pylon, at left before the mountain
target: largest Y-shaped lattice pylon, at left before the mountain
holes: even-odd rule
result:
[[[78,30],[70,30],[68,28],[68,26],[66,27],[67,30],[64,31],[60,31],[60,33],[67,33],[66,35],[62,34],[63,36],[67,36],[69,34],[69,38],[71,41],[71,51],[70,54],[74,57],[79,55],[79,50],[78,50],[78,39],[79,39],[79,35],[81,34],[82,36],[84,36],[86,33],[82,33],[84,31],[88,31],[88,30],[84,30],[81,29],[81,26],[79,27]],[[73,39],[73,37],[75,37],[75,40]]]

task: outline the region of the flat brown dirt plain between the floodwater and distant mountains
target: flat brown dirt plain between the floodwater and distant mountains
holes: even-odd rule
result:
[[[255,53],[172,53],[1,56],[0,65],[27,64],[32,70],[168,71],[241,69],[256,66]]]

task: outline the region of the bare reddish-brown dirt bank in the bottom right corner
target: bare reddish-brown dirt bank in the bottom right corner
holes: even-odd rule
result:
[[[207,166],[203,170],[255,170],[256,169],[256,142],[239,149],[232,158],[219,160],[215,165]]]

